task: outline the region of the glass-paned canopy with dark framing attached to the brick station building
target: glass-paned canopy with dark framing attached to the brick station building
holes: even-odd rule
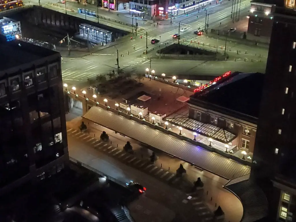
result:
[[[236,135],[218,126],[202,123],[189,118],[189,110],[182,109],[179,112],[172,113],[165,120],[170,123],[182,126],[190,131],[194,131],[203,136],[208,136],[222,143],[229,143],[236,138]]]

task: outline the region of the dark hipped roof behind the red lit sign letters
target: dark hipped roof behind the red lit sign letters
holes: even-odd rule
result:
[[[189,103],[202,101],[219,107],[219,112],[225,109],[258,118],[263,81],[262,73],[233,73],[229,78],[190,96]]]

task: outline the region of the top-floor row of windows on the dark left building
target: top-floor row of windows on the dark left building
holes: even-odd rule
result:
[[[50,79],[58,76],[58,65],[57,63],[49,65],[48,77]],[[34,71],[26,72],[21,75],[15,75],[6,80],[0,81],[0,97],[7,95],[7,87],[12,92],[20,90],[20,84],[23,82],[26,88],[33,86],[33,78],[36,78],[37,83],[42,83],[46,81],[46,67],[42,67]]]

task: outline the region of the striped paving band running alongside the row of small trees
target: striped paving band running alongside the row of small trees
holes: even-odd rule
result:
[[[112,156],[114,158],[117,158],[121,162],[124,162],[125,164],[128,164],[141,171],[144,171],[145,173],[153,177],[156,177],[159,180],[168,183],[172,186],[181,186],[182,184],[181,178],[176,176],[175,174],[163,168],[155,166],[150,161],[139,159],[135,155],[128,154],[123,150],[120,150],[118,147],[116,148],[110,144],[101,142],[96,138],[92,137],[90,134],[76,131],[73,128],[68,128],[67,135],[68,137],[71,136],[75,139],[79,139],[80,141],[83,141],[84,143],[93,147],[94,149],[104,152],[107,155]],[[198,215],[200,215],[200,217],[204,221],[210,221],[211,219],[213,219],[213,213],[211,213],[208,207],[204,204],[201,197],[202,193],[202,188],[200,188],[196,192],[186,193],[187,196],[190,196],[190,198],[187,198],[187,200],[190,201],[194,210],[197,211]]]

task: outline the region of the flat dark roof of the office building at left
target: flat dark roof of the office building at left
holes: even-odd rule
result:
[[[59,55],[41,46],[36,46],[24,41],[6,41],[6,37],[0,35],[0,71],[8,70],[22,64],[30,63],[44,57]]]

